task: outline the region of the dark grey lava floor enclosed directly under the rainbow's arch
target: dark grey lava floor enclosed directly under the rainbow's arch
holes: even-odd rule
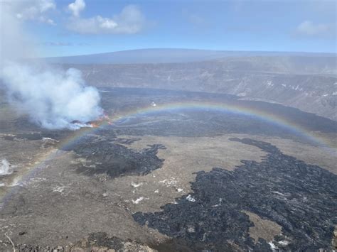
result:
[[[309,143],[289,128],[267,124],[253,116],[211,110],[181,109],[116,121],[117,134],[133,136],[218,136],[226,133],[250,133],[280,136]],[[311,142],[310,142],[311,143]],[[314,143],[312,143],[314,144]]]

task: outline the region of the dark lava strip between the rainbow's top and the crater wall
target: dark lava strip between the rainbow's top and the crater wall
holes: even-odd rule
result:
[[[305,126],[309,131],[335,133],[337,130],[336,121],[280,104],[241,100],[230,94],[120,87],[105,87],[102,90],[105,90],[101,93],[102,107],[106,111],[112,108],[115,109],[114,111],[128,108],[134,110],[150,106],[151,102],[155,102],[159,106],[175,102],[200,102],[201,104],[211,102],[250,108],[252,111],[261,111],[263,114],[272,114],[274,117],[287,119],[289,124]]]

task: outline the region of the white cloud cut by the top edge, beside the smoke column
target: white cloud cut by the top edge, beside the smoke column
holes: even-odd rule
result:
[[[54,0],[14,1],[16,18],[26,21],[38,21],[55,25],[53,19],[48,18],[48,11],[56,9]]]

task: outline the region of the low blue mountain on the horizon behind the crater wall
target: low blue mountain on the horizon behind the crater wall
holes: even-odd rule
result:
[[[144,63],[198,62],[206,60],[217,60],[223,57],[255,57],[255,56],[336,57],[336,54],[151,48],[151,49],[137,49],[137,50],[122,50],[112,53],[98,53],[92,55],[46,57],[44,60],[46,60],[49,63],[58,63],[58,64],[144,64]]]

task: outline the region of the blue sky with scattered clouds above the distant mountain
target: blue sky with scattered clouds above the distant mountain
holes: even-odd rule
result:
[[[139,48],[337,50],[337,1],[0,1],[14,4],[30,34],[23,40],[40,57]]]

